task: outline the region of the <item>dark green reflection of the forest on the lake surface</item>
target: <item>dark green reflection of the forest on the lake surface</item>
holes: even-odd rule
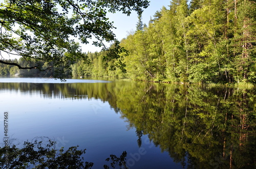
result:
[[[0,90],[108,101],[142,134],[188,168],[255,167],[255,91],[139,82],[0,83]],[[40,90],[39,90],[40,89]],[[61,93],[61,95],[60,95]]]

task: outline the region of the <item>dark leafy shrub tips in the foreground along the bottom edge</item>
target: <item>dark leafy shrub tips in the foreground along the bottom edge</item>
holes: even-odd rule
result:
[[[19,147],[19,148],[18,148]],[[86,168],[91,169],[93,162],[85,161],[82,157],[86,149],[78,150],[79,146],[56,149],[56,142],[48,137],[35,137],[31,142],[24,142],[20,145],[5,145],[0,147],[0,168]],[[120,157],[111,154],[105,161],[112,168],[119,166],[127,169],[124,151]],[[110,168],[104,164],[104,168]]]

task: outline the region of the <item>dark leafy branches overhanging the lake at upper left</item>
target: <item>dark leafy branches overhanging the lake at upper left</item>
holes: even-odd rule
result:
[[[102,46],[103,41],[111,42],[115,40],[112,32],[115,27],[106,13],[141,14],[148,3],[147,0],[6,0],[0,4],[0,63],[12,64],[4,61],[3,55],[7,53],[28,61],[48,62],[56,72],[60,66],[61,71],[68,69],[72,62],[84,57],[74,37],[84,44],[94,37],[96,46]],[[38,65],[27,68],[41,69]]]

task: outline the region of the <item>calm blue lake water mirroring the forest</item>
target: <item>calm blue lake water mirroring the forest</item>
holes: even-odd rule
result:
[[[129,168],[255,168],[255,94],[114,78],[2,77],[0,124],[8,112],[12,144],[45,136],[57,149],[79,145],[92,168],[123,151]]]

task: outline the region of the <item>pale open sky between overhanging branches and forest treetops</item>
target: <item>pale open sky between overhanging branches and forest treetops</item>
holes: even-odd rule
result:
[[[160,11],[163,6],[168,9],[170,5],[170,0],[152,0],[150,2],[150,6],[144,9],[142,14],[143,23],[148,24],[150,21],[150,17],[156,13],[156,11]],[[108,14],[110,21],[114,21],[114,26],[116,27],[113,32],[116,35],[116,38],[120,41],[123,38],[126,38],[129,32],[136,30],[136,24],[138,22],[138,15],[135,11],[132,12],[130,16],[126,16],[121,12],[117,12],[115,14]],[[95,52],[100,51],[101,48],[97,48],[93,45],[82,45],[82,51],[87,52]]]

